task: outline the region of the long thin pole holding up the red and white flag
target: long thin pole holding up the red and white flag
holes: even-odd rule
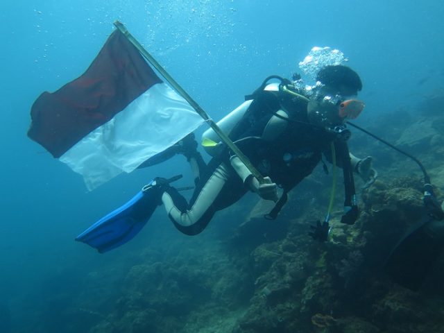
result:
[[[189,94],[176,82],[176,80],[174,80],[168,74],[168,72],[159,64],[159,62],[157,62],[157,60],[155,60],[155,58],[153,58],[153,56],[151,56],[151,54],[148,53],[146,49],[144,49],[144,46],[142,46],[142,44],[140,44],[135,39],[135,37],[133,37],[133,35],[129,33],[126,26],[124,26],[121,22],[119,22],[119,20],[116,20],[114,22],[114,26],[116,26],[116,28],[118,28],[119,31],[123,33],[123,35],[125,35],[126,38],[128,38],[128,40],[139,50],[142,56],[144,56],[146,60],[148,60],[148,62],[150,62],[151,65],[153,65],[153,67],[157,69],[157,71],[159,71],[160,74],[162,74],[162,76],[168,81],[168,83],[174,89],[176,89],[176,91],[180,95],[182,95],[182,97],[189,103],[189,105],[191,105],[194,108],[194,110],[196,110],[196,112],[200,115],[200,117],[205,119],[205,121],[208,123],[208,125],[210,125],[210,127],[214,130],[214,132],[217,135],[219,135],[221,140],[233,151],[233,153],[235,153],[239,157],[241,162],[245,164],[245,166],[248,168],[248,170],[250,170],[253,176],[255,176],[255,178],[257,178],[259,182],[263,183],[264,178],[262,177],[261,173],[259,173],[259,171],[255,168],[255,166],[250,162],[250,160],[248,160],[248,157],[246,157],[246,155],[244,155],[244,153],[241,152],[241,150],[234,144],[234,142],[232,142],[232,140],[228,137],[228,135],[226,135],[223,132],[223,130],[221,130],[221,128],[217,126],[217,123],[208,116],[207,112],[205,112],[203,108],[200,108],[200,105],[198,105],[198,103],[194,101],[194,99],[192,99],[191,96],[189,96]]]

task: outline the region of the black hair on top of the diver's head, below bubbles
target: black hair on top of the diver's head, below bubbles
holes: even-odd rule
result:
[[[323,85],[331,85],[333,87],[339,87],[339,85],[345,85],[356,92],[361,91],[362,82],[361,78],[356,71],[350,67],[343,65],[329,65],[323,67],[316,75],[316,80]]]

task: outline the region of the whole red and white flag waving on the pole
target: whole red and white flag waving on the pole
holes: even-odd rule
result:
[[[28,136],[94,189],[136,169],[203,123],[114,31],[87,71],[31,108]]]

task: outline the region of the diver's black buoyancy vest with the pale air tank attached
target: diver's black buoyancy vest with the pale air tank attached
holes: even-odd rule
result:
[[[288,80],[281,79],[281,83],[271,84],[267,83],[268,80],[266,78],[261,87],[246,96],[247,101],[221,119],[218,125],[248,156],[262,176],[269,176],[284,189],[273,214],[268,214],[274,219],[287,200],[287,192],[311,174],[322,160],[322,153],[330,149],[336,137],[324,128],[309,123],[309,99],[303,89],[294,87]],[[273,118],[281,119],[287,126],[275,139],[268,141],[263,136]],[[212,156],[225,150],[212,129],[203,134],[203,146]],[[348,156],[339,156],[339,161],[350,164]],[[344,171],[347,172],[347,179],[353,182],[350,167]],[[354,184],[345,185],[346,202],[350,205],[352,196],[355,198]],[[350,188],[352,191],[348,190]]]

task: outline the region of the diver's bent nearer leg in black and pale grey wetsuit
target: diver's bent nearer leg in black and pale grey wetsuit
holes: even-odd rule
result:
[[[235,203],[246,191],[241,179],[222,163],[196,188],[189,204],[173,187],[164,192],[162,203],[176,228],[193,235],[205,229],[215,212]]]

